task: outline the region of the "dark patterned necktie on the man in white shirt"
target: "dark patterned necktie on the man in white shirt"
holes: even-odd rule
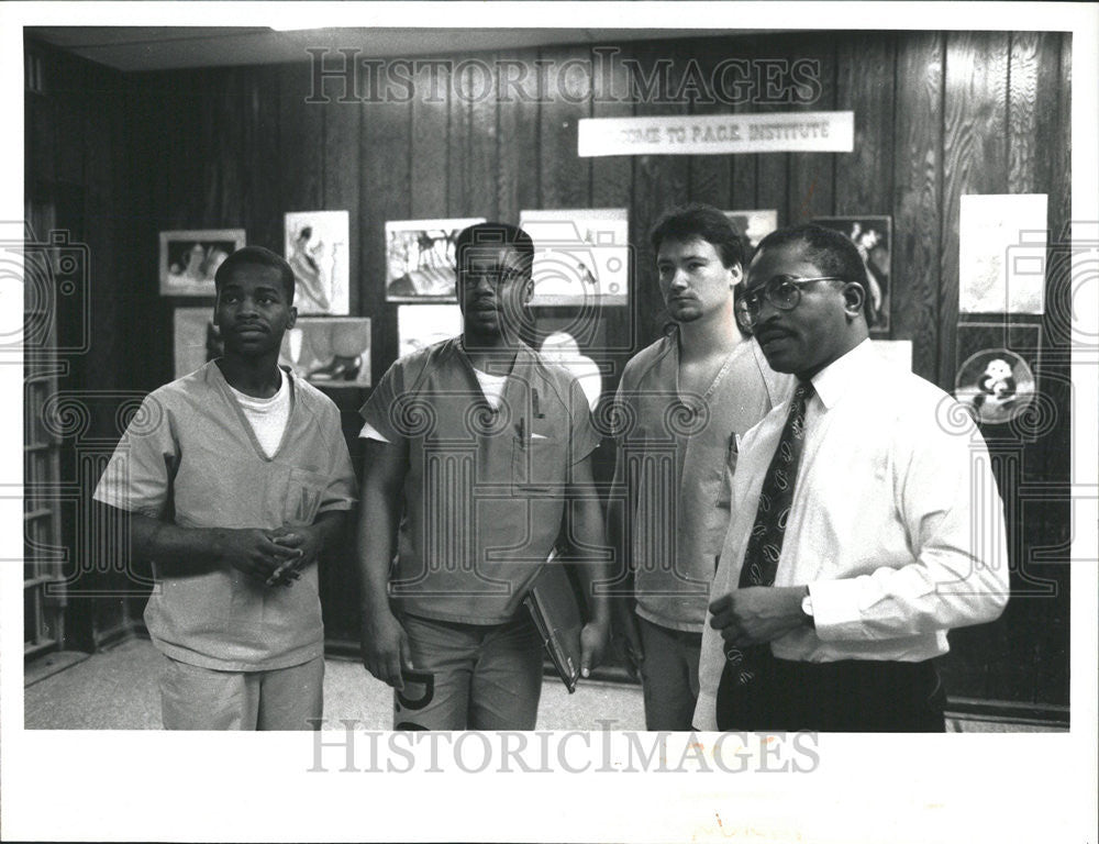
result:
[[[782,554],[782,537],[793,503],[793,482],[798,478],[801,451],[806,443],[806,402],[813,396],[812,381],[799,381],[790,400],[786,427],[778,441],[775,456],[770,458],[767,475],[759,490],[759,507],[744,552],[739,587],[774,586],[778,558]],[[735,686],[746,686],[755,677],[757,666],[770,654],[770,645],[755,645],[741,649],[730,645],[725,649],[725,667],[718,687],[719,699]]]

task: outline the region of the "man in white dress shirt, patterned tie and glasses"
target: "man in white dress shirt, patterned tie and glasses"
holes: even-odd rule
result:
[[[851,242],[813,225],[770,234],[748,268],[739,318],[799,387],[741,444],[698,729],[941,732],[947,631],[1007,603],[985,442],[878,359],[864,278]]]

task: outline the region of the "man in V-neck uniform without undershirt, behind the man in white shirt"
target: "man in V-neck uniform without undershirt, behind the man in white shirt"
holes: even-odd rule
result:
[[[619,384],[611,533],[632,590],[614,614],[641,674],[646,728],[689,730],[736,437],[789,397],[792,378],[774,373],[737,329],[743,244],[721,211],[674,209],[651,241],[674,325],[631,358]]]

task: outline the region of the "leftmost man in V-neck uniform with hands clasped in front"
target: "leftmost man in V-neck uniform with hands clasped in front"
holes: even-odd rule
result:
[[[262,246],[214,276],[224,354],[152,392],[95,498],[129,511],[157,585],[168,730],[319,729],[324,630],[313,565],[343,532],[355,471],[336,406],[278,366],[293,271]]]

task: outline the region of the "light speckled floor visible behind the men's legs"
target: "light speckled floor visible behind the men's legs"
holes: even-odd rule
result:
[[[132,640],[93,654],[34,682],[24,693],[26,729],[158,730],[157,675],[163,657],[146,640]],[[64,662],[64,660],[59,660]],[[354,719],[359,729],[388,730],[391,692],[357,662],[328,659],[324,718]],[[540,730],[644,730],[641,688],[581,681],[569,695],[546,679],[539,708]],[[1046,732],[1050,728],[947,718],[952,732]]]

